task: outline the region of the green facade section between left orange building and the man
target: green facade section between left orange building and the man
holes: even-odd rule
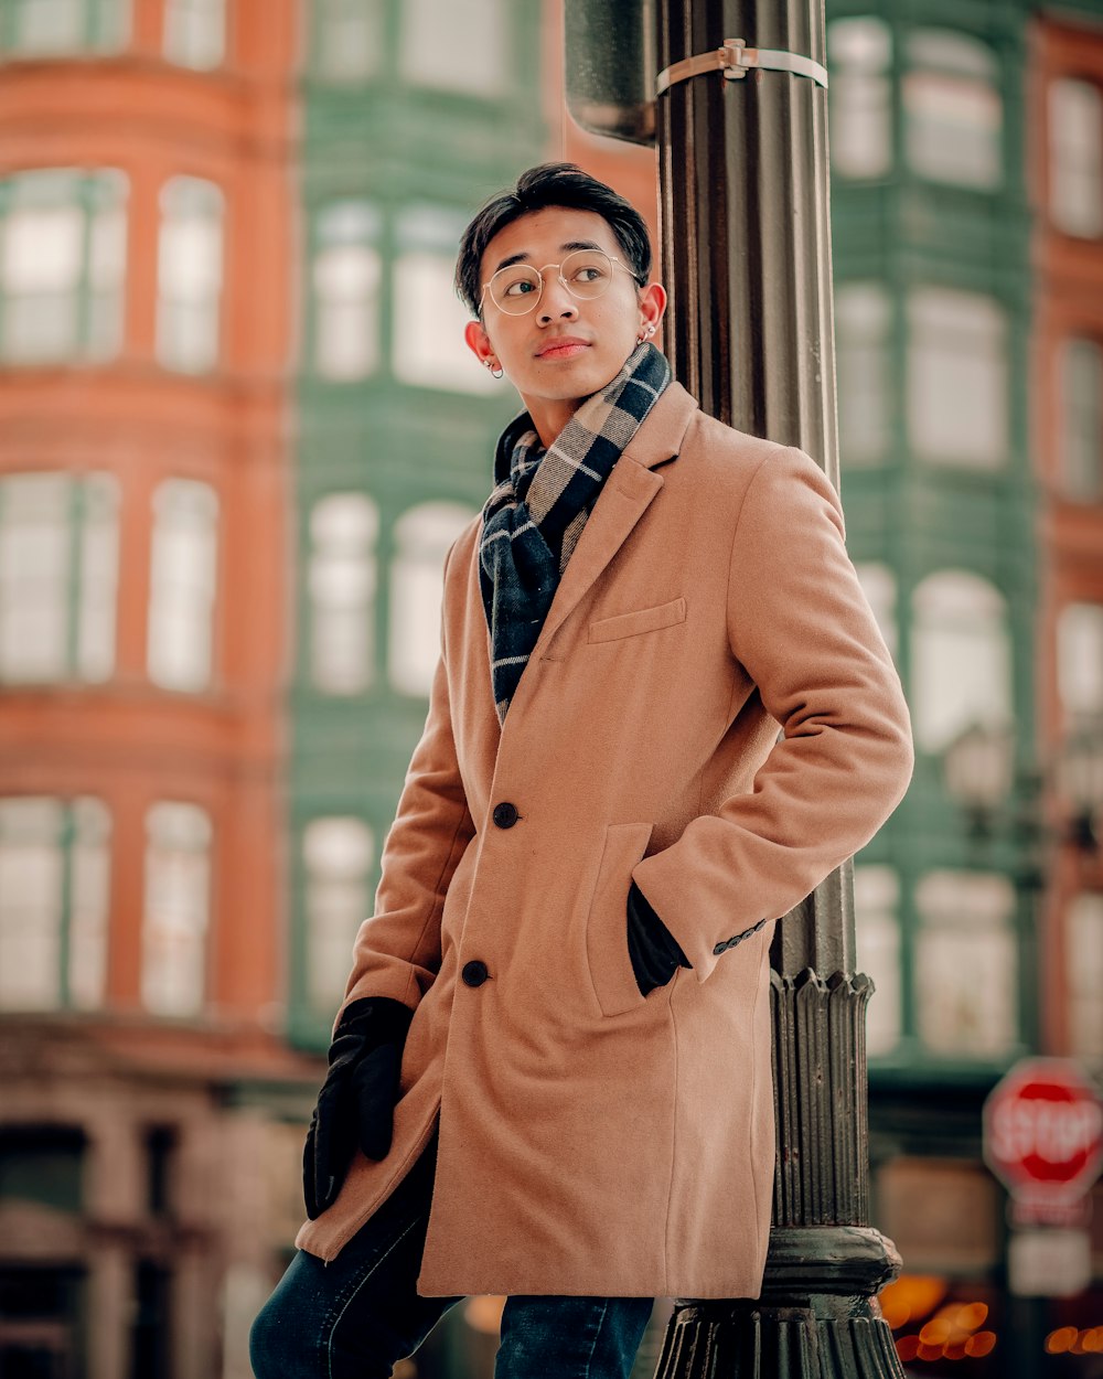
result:
[[[288,1011],[292,1041],[323,1048],[425,721],[444,556],[516,407],[462,342],[456,245],[545,131],[538,6],[309,14]]]

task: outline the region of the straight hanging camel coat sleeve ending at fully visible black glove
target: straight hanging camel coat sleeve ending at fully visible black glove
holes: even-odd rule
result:
[[[447,578],[445,561],[445,589]],[[342,1009],[363,996],[389,996],[418,1005],[440,971],[444,896],[473,837],[474,822],[452,736],[447,648],[441,640],[425,731],[383,847],[375,912],[356,936]]]

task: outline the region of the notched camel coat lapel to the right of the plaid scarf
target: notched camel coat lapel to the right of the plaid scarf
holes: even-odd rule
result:
[[[642,425],[605,480],[601,496],[567,563],[567,570],[563,572],[539,641],[532,652],[534,661],[543,655],[552,638],[627,541],[631,530],[663,487],[663,477],[656,473],[656,466],[677,458],[696,410],[696,401],[681,383],[671,382],[644,418]],[[631,461],[631,463],[625,463],[625,461]],[[524,703],[532,688],[532,676],[521,676],[506,716],[506,725],[510,721],[517,721],[518,707],[521,707],[518,701]]]

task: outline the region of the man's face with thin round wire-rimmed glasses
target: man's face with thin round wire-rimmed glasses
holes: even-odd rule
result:
[[[607,291],[591,301],[572,296],[557,268],[546,266],[579,248],[600,248],[616,259]],[[565,207],[523,215],[487,245],[483,284],[510,262],[543,269],[534,310],[509,316],[487,291],[483,323],[472,321],[466,335],[480,361],[505,370],[542,433],[542,419],[557,432],[583,399],[615,378],[640,335],[662,317],[663,290],[651,284],[641,292],[623,258],[604,217]]]

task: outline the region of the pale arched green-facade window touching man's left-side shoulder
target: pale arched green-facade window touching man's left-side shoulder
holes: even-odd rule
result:
[[[440,659],[444,557],[474,514],[458,503],[422,503],[394,524],[390,579],[390,680],[427,695]]]

